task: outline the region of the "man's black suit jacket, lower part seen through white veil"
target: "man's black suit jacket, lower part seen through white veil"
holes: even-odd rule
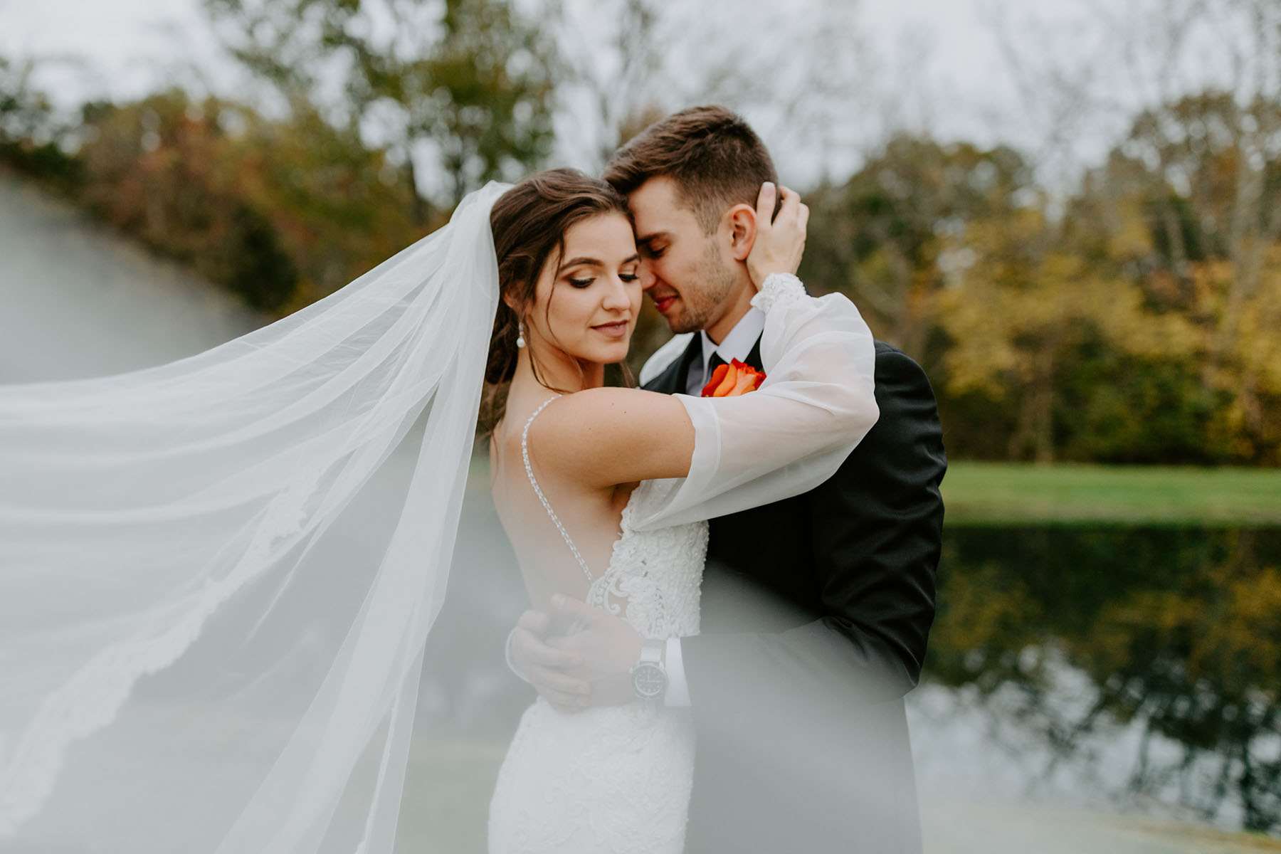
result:
[[[646,388],[683,393],[699,347]],[[835,475],[711,520],[702,634],[681,641],[689,854],[921,850],[903,695],[934,621],[947,457],[920,366],[876,342],[875,380],[880,417]]]

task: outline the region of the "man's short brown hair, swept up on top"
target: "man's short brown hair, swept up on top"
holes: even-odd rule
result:
[[[619,149],[603,178],[626,196],[660,175],[675,182],[706,234],[731,205],[755,206],[761,184],[779,182],[761,137],[724,106],[692,106],[655,122]]]

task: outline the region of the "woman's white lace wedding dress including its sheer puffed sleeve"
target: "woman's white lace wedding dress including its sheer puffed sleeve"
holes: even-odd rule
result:
[[[770,279],[753,300],[766,312],[770,379],[738,398],[676,396],[696,428],[689,476],[633,490],[608,566],[591,583],[587,603],[621,616],[643,638],[698,634],[707,519],[817,485],[875,421],[871,334],[857,310],[844,297],[804,296],[794,277]],[[687,341],[674,339],[667,353]],[[529,425],[552,399],[525,423],[525,474],[569,547],[565,560],[573,554],[588,571],[529,465]],[[512,536],[518,554],[535,548],[520,539]],[[539,697],[498,771],[489,853],[680,854],[693,763],[688,708],[633,702],[564,713]]]

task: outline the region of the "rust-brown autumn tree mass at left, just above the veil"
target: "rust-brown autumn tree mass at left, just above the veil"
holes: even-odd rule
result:
[[[79,204],[257,309],[295,311],[421,234],[383,154],[315,114],[174,90],[87,105],[81,136]]]

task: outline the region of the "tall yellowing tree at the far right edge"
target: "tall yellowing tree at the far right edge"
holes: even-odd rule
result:
[[[1186,397],[1214,401],[1212,456],[1281,458],[1278,353],[1263,333],[1281,321],[1281,100],[1208,91],[1144,110],[1068,215],[1097,264],[1185,318]]]

